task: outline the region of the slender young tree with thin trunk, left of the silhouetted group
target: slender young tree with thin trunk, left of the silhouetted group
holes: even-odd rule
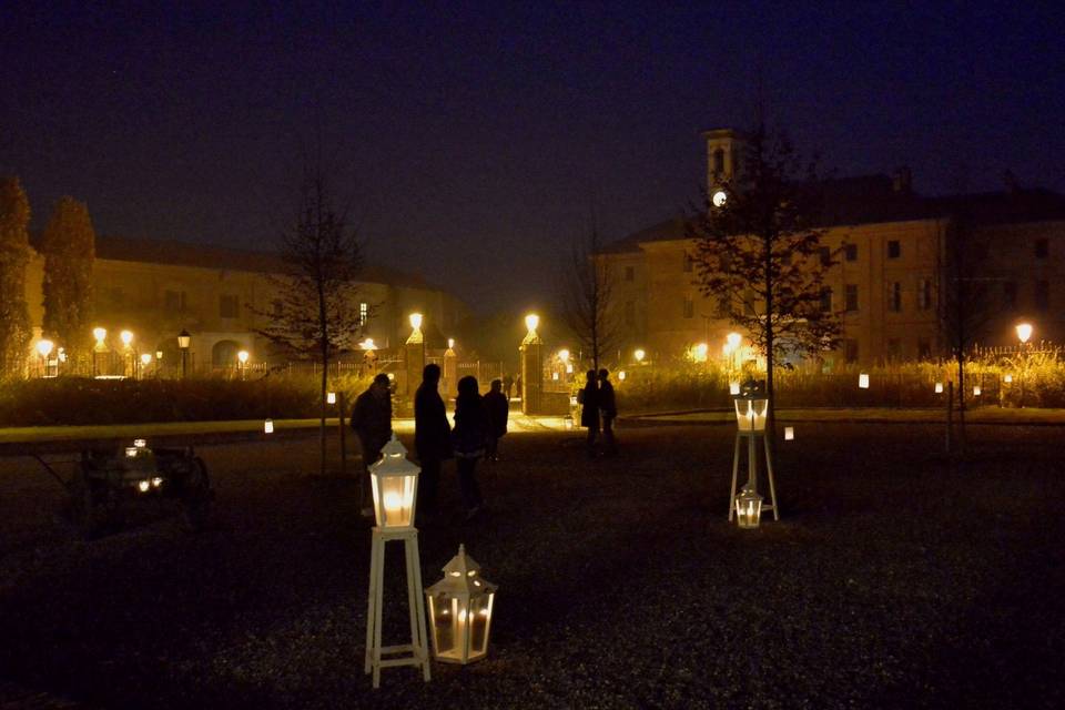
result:
[[[300,190],[298,205],[281,235],[281,256],[286,271],[271,277],[278,298],[265,312],[256,333],[288,354],[313,359],[322,367],[321,470],[325,473],[326,390],[329,363],[352,351],[362,337],[358,311],[358,277],[363,257],[355,230],[338,212],[324,175],[308,173]]]

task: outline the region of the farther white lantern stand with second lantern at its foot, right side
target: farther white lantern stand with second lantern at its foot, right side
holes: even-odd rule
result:
[[[764,510],[773,511],[773,519],[780,520],[777,507],[777,486],[773,480],[773,459],[769,439],[765,437],[765,418],[769,414],[769,399],[758,385],[744,385],[739,395],[732,398],[736,404],[736,447],[732,453],[732,491],[729,495],[729,523],[737,516],[741,528],[757,528]],[[765,452],[765,471],[769,478],[770,503],[764,505],[758,494],[758,439],[762,439]],[[739,495],[736,493],[737,477],[740,471],[740,445],[747,440],[747,483]]]

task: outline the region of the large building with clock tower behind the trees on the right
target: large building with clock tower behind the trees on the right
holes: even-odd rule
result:
[[[742,136],[704,134],[708,195],[731,178]],[[910,186],[907,171],[833,180],[825,185],[822,240],[830,258],[824,306],[841,313],[833,363],[879,364],[944,355],[949,337],[941,303],[947,240],[960,229],[974,288],[986,291],[982,344],[1016,344],[1014,324],[1027,321],[1035,338],[1065,339],[1065,196],[1016,187],[982,194],[926,197]],[[628,352],[658,359],[693,349],[724,357],[736,329],[716,298],[706,296],[693,261],[688,223],[678,217],[641,230],[598,255],[613,283],[613,318]],[[743,335],[743,334],[741,334]]]

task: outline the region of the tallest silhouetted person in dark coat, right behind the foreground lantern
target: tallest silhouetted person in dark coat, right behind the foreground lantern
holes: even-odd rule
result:
[[[418,477],[418,516],[436,515],[440,464],[452,457],[452,426],[440,398],[440,366],[428,364],[414,394],[414,449],[422,465]]]

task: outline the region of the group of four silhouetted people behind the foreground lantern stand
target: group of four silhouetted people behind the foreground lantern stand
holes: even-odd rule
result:
[[[503,393],[503,381],[491,381],[490,390],[481,396],[477,378],[467,375],[458,381],[455,428],[452,428],[439,384],[439,365],[426,365],[414,395],[414,447],[422,465],[417,514],[423,521],[437,515],[440,468],[444,462],[454,458],[466,519],[471,520],[480,515],[485,505],[477,485],[477,462],[480,458],[499,460],[499,439],[507,433],[509,402]],[[387,375],[377,375],[355,400],[352,428],[362,444],[363,462],[369,466],[381,458],[381,449],[392,438]],[[364,481],[364,491],[367,488]],[[373,515],[373,508],[365,505],[365,495],[364,514]]]

